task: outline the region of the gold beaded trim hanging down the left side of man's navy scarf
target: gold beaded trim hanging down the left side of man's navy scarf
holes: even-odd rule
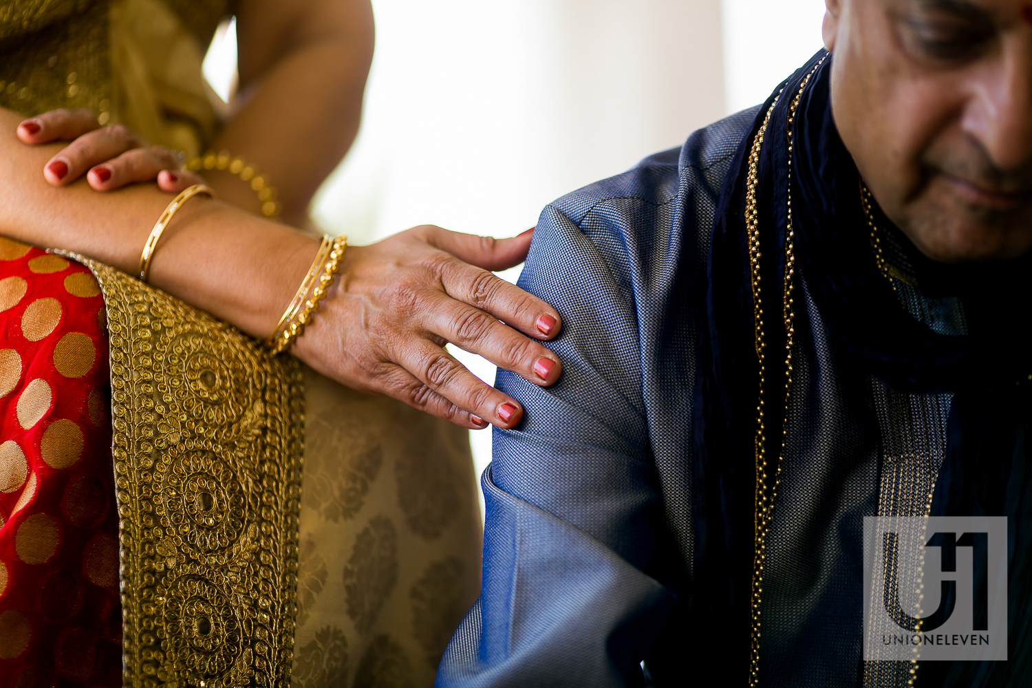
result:
[[[755,528],[755,551],[752,558],[752,595],[750,601],[750,612],[752,617],[751,644],[749,649],[749,686],[754,688],[760,685],[760,630],[761,630],[761,601],[763,596],[764,565],[767,559],[767,535],[770,531],[770,524],[774,517],[774,500],[777,497],[777,489],[781,482],[781,461],[784,455],[785,438],[788,425],[788,398],[792,390],[792,352],[795,346],[795,308],[794,308],[794,277],[796,271],[795,254],[795,230],[793,228],[792,215],[792,154],[793,134],[792,125],[795,122],[796,110],[806,89],[810,77],[825,63],[825,58],[813,67],[809,74],[803,79],[799,87],[799,93],[793,99],[788,107],[788,193],[787,193],[787,217],[784,235],[784,290],[782,292],[782,305],[784,308],[784,329],[785,329],[785,387],[784,387],[784,415],[781,422],[781,451],[777,457],[777,467],[774,471],[773,485],[768,489],[767,477],[767,430],[764,423],[764,383],[766,369],[764,367],[766,339],[764,337],[763,323],[763,302],[761,300],[761,270],[760,270],[760,215],[756,208],[756,188],[760,184],[760,154],[763,150],[764,138],[767,134],[767,127],[770,124],[771,113],[777,105],[781,96],[778,95],[771,103],[770,109],[764,119],[760,131],[752,142],[752,150],[749,153],[749,172],[745,195],[745,226],[748,237],[749,250],[749,270],[752,287],[752,310],[754,323],[754,346],[756,357],[760,362],[760,399],[756,403],[756,433],[754,440],[755,468],[756,468],[756,489],[755,489],[755,513],[753,524]],[[768,492],[770,496],[768,497]]]

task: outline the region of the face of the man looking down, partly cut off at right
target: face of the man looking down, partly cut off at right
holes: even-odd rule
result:
[[[835,123],[889,218],[950,263],[1032,249],[1032,0],[827,0]]]

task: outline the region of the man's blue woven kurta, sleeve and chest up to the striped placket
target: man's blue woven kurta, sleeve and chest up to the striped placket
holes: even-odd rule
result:
[[[696,570],[713,544],[700,542],[708,533],[699,528],[701,494],[712,488],[692,449],[692,390],[715,203],[757,111],[542,214],[519,284],[562,315],[549,346],[563,374],[547,389],[498,374],[526,420],[495,430],[483,477],[482,595],[445,653],[440,686],[747,682],[748,619],[725,620],[733,635],[700,622],[715,589],[727,597],[733,586]],[[877,421],[869,379],[842,364],[805,303],[761,678],[772,687],[852,686]],[[749,496],[740,507],[751,513]]]

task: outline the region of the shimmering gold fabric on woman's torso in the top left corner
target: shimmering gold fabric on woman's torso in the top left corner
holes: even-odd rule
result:
[[[218,121],[201,61],[229,0],[0,0],[0,107],[87,108],[196,155]]]

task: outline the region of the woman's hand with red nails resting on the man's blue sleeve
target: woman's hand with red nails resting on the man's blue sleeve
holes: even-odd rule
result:
[[[351,387],[466,428],[515,426],[520,404],[444,347],[453,342],[538,385],[558,380],[558,358],[538,341],[558,333],[558,313],[488,271],[522,262],[531,234],[495,240],[423,226],[348,249],[295,355]]]

